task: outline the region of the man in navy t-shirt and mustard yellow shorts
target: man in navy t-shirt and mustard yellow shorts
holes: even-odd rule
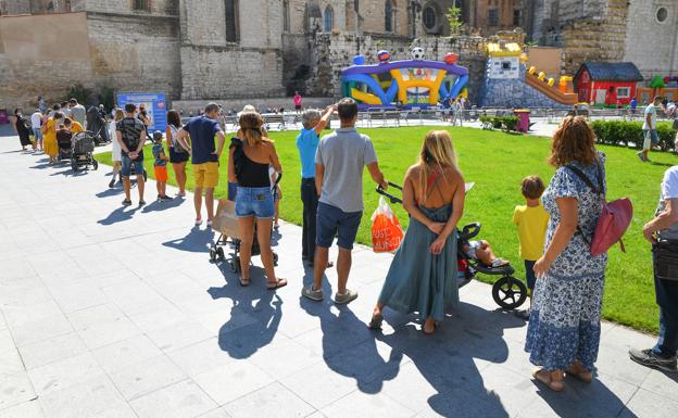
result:
[[[218,185],[218,161],[224,150],[226,137],[216,121],[218,117],[218,104],[210,103],[205,106],[204,115],[192,119],[177,135],[177,140],[184,149],[191,153],[196,191],[193,204],[196,205],[196,226],[202,224],[202,190],[205,193],[205,206],[208,208],[208,227],[212,227],[214,220],[214,188]],[[191,144],[188,144],[190,136]],[[214,139],[218,139],[215,147]]]

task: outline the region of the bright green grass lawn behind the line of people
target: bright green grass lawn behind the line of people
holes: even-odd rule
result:
[[[416,162],[422,138],[430,127],[403,127],[361,129],[374,141],[379,164],[391,181],[401,183],[405,169]],[[474,181],[469,192],[462,223],[482,223],[481,237],[492,243],[497,252],[513,261],[517,277],[524,277],[523,263],[518,256],[516,230],[511,223],[513,208],[523,204],[520,179],[530,174],[548,181],[553,168],[545,163],[549,154],[549,139],[485,131],[473,128],[448,128],[457,150],[460,164],[466,181]],[[301,224],[302,204],[299,192],[300,163],[294,145],[296,131],[273,132],[280,155],[285,176],[282,178],[284,199],[280,215],[284,219]],[[646,331],[657,331],[657,308],[654,303],[650,245],[642,239],[642,225],[652,218],[660,192],[664,170],[675,164],[675,156],[668,153],[653,153],[654,163],[642,164],[636,152],[626,148],[600,147],[607,154],[608,197],[628,197],[633,202],[635,217],[626,235],[627,253],[615,246],[610,252],[607,282],[603,315],[606,319]],[[151,155],[150,147],[147,154]],[[98,155],[110,164],[110,153]],[[226,153],[222,159],[222,181],[217,197],[226,195]],[[152,162],[146,161],[149,175]],[[190,165],[188,165],[190,172]],[[172,167],[168,167],[172,172]],[[188,175],[189,189],[192,175]],[[174,175],[170,173],[171,182]],[[359,241],[371,243],[369,217],[375,210],[378,195],[367,172],[365,185],[365,216],[359,231]],[[402,207],[394,207],[403,227],[407,216]],[[491,281],[492,278],[484,277]]]

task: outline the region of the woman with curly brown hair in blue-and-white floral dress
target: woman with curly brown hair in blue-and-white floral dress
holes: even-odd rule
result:
[[[525,350],[540,366],[532,375],[551,390],[564,377],[591,382],[598,358],[607,254],[592,256],[591,238],[602,211],[605,154],[595,150],[594,135],[581,116],[566,117],[553,136],[549,162],[555,175],[542,195],[551,215],[544,253],[535,265],[537,286]],[[599,195],[592,185],[603,186]]]

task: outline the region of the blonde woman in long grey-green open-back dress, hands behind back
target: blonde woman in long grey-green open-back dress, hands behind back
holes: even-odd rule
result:
[[[450,135],[432,130],[424,138],[419,162],[405,174],[403,206],[410,227],[389,268],[371,329],[381,327],[385,306],[418,313],[430,334],[449,306],[459,303],[456,224],[464,212],[464,178]]]

